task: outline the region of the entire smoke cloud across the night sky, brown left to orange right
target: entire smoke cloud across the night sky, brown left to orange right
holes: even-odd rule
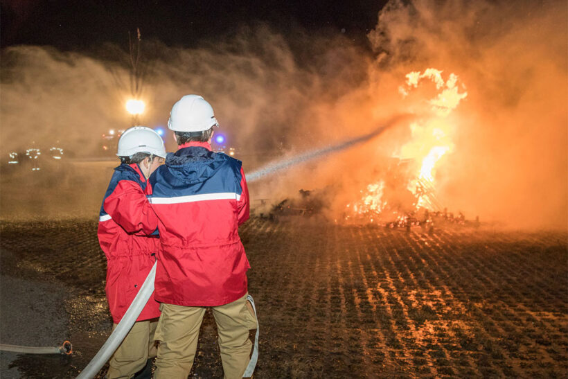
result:
[[[468,91],[447,116],[453,146],[436,164],[438,200],[467,218],[565,228],[566,15],[561,1],[391,1],[369,34],[372,52],[339,33],[280,35],[264,25],[195,49],[143,41],[141,98],[147,109],[141,124],[163,127],[175,101],[201,94],[215,109],[218,132],[252,172],[357,139],[402,114],[429,117],[430,89],[405,98],[399,88],[407,73],[434,67],[445,78],[455,73]],[[76,158],[100,155],[101,134],[131,122],[124,109],[130,96],[127,58],[112,45],[90,53],[4,49],[1,156],[56,141]],[[360,146],[251,184],[251,195],[276,202],[301,188],[332,188],[330,212],[339,215],[366,186],[389,180],[391,157],[400,156],[410,139],[410,122],[400,123]],[[175,149],[171,136],[166,143]],[[116,141],[109,149],[116,149]],[[100,192],[80,197],[82,209],[96,215],[112,166],[98,166],[96,177],[88,165],[61,174],[75,177],[63,181],[69,188],[80,187],[81,178]],[[10,202],[6,182],[17,173],[9,174],[3,170],[4,215]],[[52,199],[49,212],[76,206],[53,202],[50,191],[44,195]]]

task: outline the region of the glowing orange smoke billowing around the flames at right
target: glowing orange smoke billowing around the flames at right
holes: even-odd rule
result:
[[[407,73],[430,67],[449,81],[455,73],[468,96],[444,118],[452,142],[433,172],[437,200],[470,219],[566,229],[567,25],[562,2],[391,1],[369,34],[375,60],[367,80],[332,104],[315,105],[310,125],[363,134],[377,120],[414,112],[418,127],[430,127],[438,121],[428,110],[436,85],[408,97],[400,87]],[[396,182],[389,157],[401,157],[411,126],[283,174],[278,183],[299,177],[304,189],[335,186],[332,215],[339,218],[369,184]],[[389,187],[390,202],[408,202],[407,188],[395,183],[385,192]]]

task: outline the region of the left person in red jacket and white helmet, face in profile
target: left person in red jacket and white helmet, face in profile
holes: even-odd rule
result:
[[[156,261],[158,219],[145,195],[150,174],[163,163],[161,136],[149,127],[126,130],[118,141],[121,166],[114,169],[100,208],[98,240],[107,256],[107,301],[114,327],[138,294]],[[159,303],[150,297],[110,360],[108,378],[150,378],[156,356]]]

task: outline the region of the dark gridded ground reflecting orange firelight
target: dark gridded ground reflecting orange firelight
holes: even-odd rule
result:
[[[96,221],[4,221],[0,231],[3,293],[17,279],[62,302],[55,305],[66,319],[61,337],[75,351],[3,353],[10,373],[76,376],[112,325]],[[260,319],[255,378],[568,375],[565,232],[451,225],[407,231],[290,217],[252,218],[240,235]],[[15,313],[30,310],[16,311],[6,299],[1,342],[17,344],[4,340],[6,330],[21,326]],[[45,315],[26,322],[53,324]],[[194,377],[222,376],[215,332],[206,312]]]

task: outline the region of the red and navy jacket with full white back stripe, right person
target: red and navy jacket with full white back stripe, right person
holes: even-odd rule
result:
[[[148,182],[161,242],[155,299],[220,306],[244,296],[250,265],[238,226],[249,218],[249,191],[241,162],[190,142]]]

